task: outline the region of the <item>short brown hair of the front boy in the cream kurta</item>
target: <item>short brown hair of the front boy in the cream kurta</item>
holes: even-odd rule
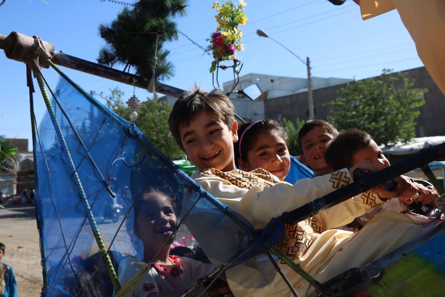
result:
[[[180,147],[182,147],[182,141],[179,127],[189,126],[199,112],[214,115],[229,128],[235,120],[235,107],[221,89],[205,92],[195,85],[193,90],[179,95],[168,119],[170,132]]]

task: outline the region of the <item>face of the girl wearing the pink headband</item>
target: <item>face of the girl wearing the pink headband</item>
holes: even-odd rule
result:
[[[238,160],[245,171],[263,168],[284,181],[291,167],[291,155],[286,142],[277,133],[261,133],[252,149],[247,153],[247,161]]]

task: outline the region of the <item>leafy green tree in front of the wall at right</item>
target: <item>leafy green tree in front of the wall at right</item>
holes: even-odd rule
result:
[[[377,78],[349,83],[329,102],[328,121],[338,129],[357,128],[369,133],[378,144],[407,142],[415,137],[418,108],[425,104],[427,89],[414,89],[414,80],[404,72],[383,69]]]

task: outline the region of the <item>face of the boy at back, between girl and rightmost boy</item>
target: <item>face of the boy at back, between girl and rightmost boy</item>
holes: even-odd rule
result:
[[[334,136],[322,126],[315,126],[301,138],[303,156],[302,163],[312,170],[324,170],[329,167],[325,160],[325,151]]]

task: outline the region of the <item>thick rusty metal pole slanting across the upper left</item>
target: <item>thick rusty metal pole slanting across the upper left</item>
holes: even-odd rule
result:
[[[12,60],[30,63],[33,59],[35,50],[33,44],[34,38],[31,36],[17,32],[11,32],[8,36],[0,34],[0,48],[5,51],[6,57]],[[119,83],[131,86],[134,85],[143,89],[147,89],[148,87],[149,81],[145,78],[55,51],[54,45],[46,41],[44,41],[44,45],[48,52],[53,56],[51,61],[56,65],[86,72]],[[49,67],[44,60],[40,61],[40,66],[44,68]],[[163,83],[157,83],[156,92],[172,97],[178,97],[184,90]]]

